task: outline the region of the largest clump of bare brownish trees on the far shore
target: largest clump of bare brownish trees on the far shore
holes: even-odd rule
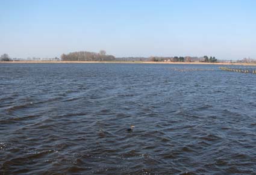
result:
[[[61,61],[114,61],[113,55],[106,55],[105,51],[95,52],[70,52],[69,54],[62,54]]]

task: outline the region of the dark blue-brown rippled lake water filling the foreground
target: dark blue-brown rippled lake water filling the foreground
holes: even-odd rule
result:
[[[0,174],[256,174],[255,97],[218,66],[0,64]]]

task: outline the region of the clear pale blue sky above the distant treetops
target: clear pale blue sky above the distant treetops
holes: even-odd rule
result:
[[[256,58],[254,0],[0,0],[0,54]]]

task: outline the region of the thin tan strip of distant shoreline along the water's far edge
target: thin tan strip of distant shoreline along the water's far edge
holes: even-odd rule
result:
[[[154,61],[0,61],[0,63],[116,63],[116,64],[211,64],[211,65],[240,65],[240,66],[256,66],[256,63],[202,63],[202,62],[154,62]]]

